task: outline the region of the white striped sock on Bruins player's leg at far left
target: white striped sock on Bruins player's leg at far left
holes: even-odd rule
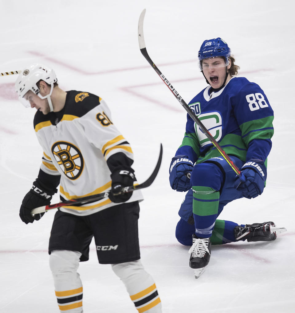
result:
[[[82,313],[82,282],[77,273],[81,253],[69,250],[54,250],[50,254],[55,295],[61,312]]]

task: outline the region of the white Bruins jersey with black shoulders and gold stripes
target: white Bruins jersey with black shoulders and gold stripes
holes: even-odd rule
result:
[[[44,115],[37,111],[34,129],[44,151],[40,169],[50,175],[61,175],[60,195],[66,200],[109,190],[112,182],[107,160],[110,156],[122,152],[133,160],[131,147],[113,125],[104,100],[87,92],[68,91],[61,112]],[[142,194],[137,190],[126,203],[141,200]],[[104,198],[60,210],[82,216],[114,205],[118,203]]]

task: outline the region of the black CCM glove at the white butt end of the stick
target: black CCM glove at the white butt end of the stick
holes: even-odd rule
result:
[[[21,220],[26,224],[33,223],[34,220],[38,221],[44,213],[34,214],[33,216],[31,210],[50,204],[52,195],[54,195],[55,192],[57,192],[56,189],[54,191],[49,191],[38,181],[38,179],[35,180],[32,189],[24,196],[20,207],[19,217]]]

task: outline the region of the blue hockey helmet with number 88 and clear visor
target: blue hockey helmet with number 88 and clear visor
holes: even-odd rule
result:
[[[225,66],[229,65],[230,54],[231,50],[228,44],[220,37],[205,40],[198,52],[200,70],[203,70],[203,60],[208,58],[224,57]]]

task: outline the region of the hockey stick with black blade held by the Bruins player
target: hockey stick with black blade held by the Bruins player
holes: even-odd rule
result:
[[[124,187],[118,193],[116,193],[114,195],[116,196],[116,195],[120,195],[120,194],[125,193],[125,192],[131,192],[131,191],[134,191],[134,190],[138,190],[138,189],[149,187],[154,182],[154,180],[155,180],[155,178],[156,178],[156,176],[157,176],[157,174],[159,172],[159,169],[160,169],[160,166],[161,166],[161,161],[162,161],[162,154],[163,154],[163,146],[161,144],[160,145],[160,154],[159,154],[158,162],[157,162],[157,164],[155,166],[154,171],[152,172],[150,177],[145,182],[143,182],[143,183],[141,183],[139,185],[134,185],[134,186],[130,186],[130,187]],[[76,200],[67,200],[67,201],[60,202],[60,203],[44,205],[42,207],[34,208],[31,211],[31,214],[43,213],[43,212],[47,212],[47,211],[52,210],[52,209],[58,209],[58,208],[61,208],[61,207],[66,207],[66,206],[80,206],[80,205],[83,205],[83,204],[92,203],[92,202],[95,202],[95,201],[102,200],[103,198],[107,198],[109,192],[110,192],[110,190],[107,190],[107,191],[102,192],[102,193],[97,193],[95,195],[88,196],[88,197],[78,198]]]

